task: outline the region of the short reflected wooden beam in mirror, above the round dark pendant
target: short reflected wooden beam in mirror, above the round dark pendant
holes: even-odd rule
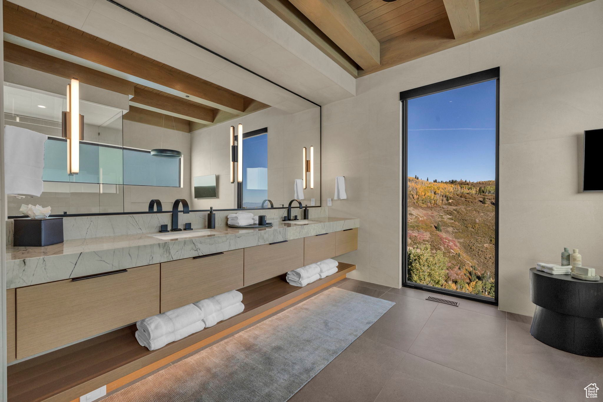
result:
[[[135,88],[134,98],[130,99],[130,105],[201,124],[213,123],[213,110],[146,89]]]

